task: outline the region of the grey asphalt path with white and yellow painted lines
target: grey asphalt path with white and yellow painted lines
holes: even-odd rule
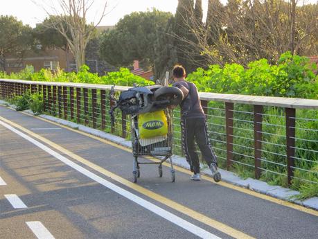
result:
[[[318,238],[317,211],[184,170],[171,183],[167,167],[159,178],[141,166],[132,184],[131,152],[6,107],[0,116],[0,238]]]

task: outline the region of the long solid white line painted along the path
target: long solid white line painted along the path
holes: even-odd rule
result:
[[[173,222],[174,224],[177,224],[177,226],[182,227],[183,229],[186,229],[186,231],[189,231],[200,238],[219,239],[219,237],[215,236],[213,233],[210,233],[209,231],[206,231],[200,227],[197,227],[197,226],[195,226],[195,224],[192,224],[191,222],[188,222],[182,218],[179,218],[177,215],[174,215],[173,213],[170,213],[164,209],[161,209],[161,207],[159,207],[155,204],[152,204],[151,202],[148,202],[147,200],[144,200],[143,198],[141,198],[137,195],[134,195],[133,193],[130,193],[129,191],[127,191],[119,186],[116,186],[115,184],[112,184],[111,182],[108,182],[106,179],[99,177],[98,175],[94,174],[93,172],[90,172],[89,170],[83,168],[82,166],[79,166],[78,164],[74,163],[73,161],[67,159],[66,157],[63,157],[58,152],[51,150],[51,148],[48,148],[46,145],[39,143],[39,141],[36,141],[35,139],[20,132],[19,130],[16,130],[14,127],[8,125],[7,123],[0,121],[0,124],[3,125],[4,127],[8,128],[8,130],[15,132],[16,134],[23,137],[24,139],[37,145],[37,147],[48,152],[48,154],[51,154],[56,159],[59,159],[63,163],[67,164],[68,166],[71,166],[71,168],[78,170],[78,172],[81,172],[83,175],[86,175],[87,177],[98,182],[99,184],[102,184],[103,186],[118,193],[119,195],[126,197],[128,200],[131,200],[132,202],[135,202],[136,204],[143,206],[143,208],[148,209],[149,211],[152,211],[153,213],[161,216],[162,218],[165,218],[166,220]]]

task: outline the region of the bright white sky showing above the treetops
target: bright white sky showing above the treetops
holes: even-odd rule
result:
[[[94,8],[89,10],[89,16],[87,17],[89,21],[94,21],[94,15],[96,15],[96,23],[98,16],[100,16],[98,12],[100,12],[100,8],[105,1],[107,1],[107,12],[109,13],[101,21],[100,26],[115,25],[124,15],[136,11],[151,10],[152,8],[175,13],[178,3],[177,0],[95,0]],[[208,0],[202,0],[205,10],[207,2]],[[51,3],[56,4],[58,0],[0,0],[0,3],[0,15],[13,15],[24,24],[35,27],[35,24],[42,22],[47,16],[40,6],[51,6]]]

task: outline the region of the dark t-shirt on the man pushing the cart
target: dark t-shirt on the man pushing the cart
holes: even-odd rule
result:
[[[195,84],[186,80],[179,80],[173,84],[173,87],[178,87],[184,93],[184,99],[180,104],[182,118],[205,117]]]

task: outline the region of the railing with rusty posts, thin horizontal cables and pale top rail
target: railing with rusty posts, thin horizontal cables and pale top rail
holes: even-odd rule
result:
[[[1,98],[39,92],[48,114],[128,139],[125,114],[118,111],[117,123],[110,123],[111,87],[0,79]],[[222,168],[267,181],[276,175],[286,186],[292,180],[318,184],[318,100],[213,93],[200,93],[200,98]],[[174,110],[175,154],[183,154],[179,113]]]

